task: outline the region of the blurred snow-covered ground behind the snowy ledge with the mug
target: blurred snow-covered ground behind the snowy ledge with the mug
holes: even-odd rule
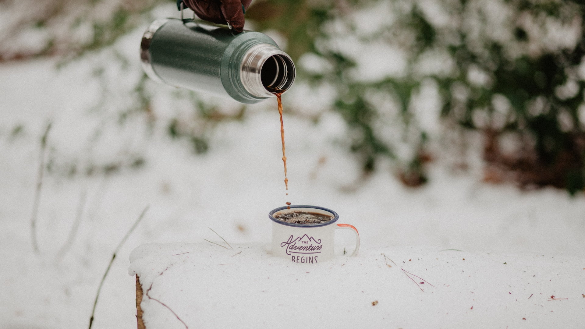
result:
[[[94,328],[135,327],[128,256],[137,245],[216,239],[208,227],[233,244],[263,243],[270,237],[267,214],[286,201],[335,210],[339,222],[360,230],[364,251],[384,247],[390,258],[393,251],[402,255],[414,246],[424,251],[421,256],[460,249],[511,254],[526,266],[532,262],[539,266],[536,257],[566,257],[574,269],[585,268],[583,194],[570,198],[560,190],[522,192],[513,186],[486,185],[474,170],[453,173],[449,159],[440,155],[432,165],[430,183],[420,189],[402,186],[390,163],[384,162],[362,180],[359,164],[345,146],[335,143],[345,129],[338,115],[325,114],[313,124],[285,114],[290,179],[285,196],[276,101],[252,106],[243,122],[218,125],[211,150],[194,155],[187,142],[171,140],[163,124],[149,128],[144,116],[117,125],[107,111],[89,112],[100,97],[100,85],[90,74],[92,60],[61,71],[54,70],[53,60],[0,66],[0,328],[87,327],[112,252],[147,205],[144,220],[118,253],[105,281]],[[283,97],[285,113],[296,98],[307,102],[314,97],[309,88],[299,90],[305,94]],[[124,95],[114,97],[124,101]],[[164,97],[157,98],[154,115],[168,115],[168,104]],[[37,255],[30,219],[40,139],[48,122],[52,128],[46,161],[58,170],[43,179]],[[144,165],[125,166],[108,176],[68,175],[66,170],[70,163],[84,167],[135,158],[144,159]],[[79,209],[77,234],[71,248],[60,254]],[[491,263],[477,258],[474,264],[481,268]],[[553,270],[541,274],[560,275]],[[574,296],[580,298],[584,277],[585,269],[572,270],[559,280],[574,287]],[[585,298],[579,301],[585,310]],[[428,321],[417,322],[417,327],[433,327],[431,314],[419,314]]]

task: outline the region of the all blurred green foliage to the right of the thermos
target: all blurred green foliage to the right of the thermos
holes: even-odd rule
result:
[[[522,185],[550,184],[570,193],[583,189],[585,114],[579,111],[585,109],[585,74],[579,70],[585,56],[585,9],[581,1],[437,0],[432,5],[440,10],[433,12],[426,8],[428,2],[394,0],[389,10],[377,12],[384,8],[381,4],[269,0],[249,9],[261,28],[278,29],[287,36],[295,59],[310,52],[330,64],[329,71],[301,72],[301,76],[312,84],[335,86],[338,95],[332,107],[349,125],[350,148],[361,156],[365,170],[373,170],[378,157],[386,156],[397,160],[401,177],[415,177],[405,180],[426,181],[429,135],[418,124],[413,105],[421,81],[430,78],[442,97],[444,121],[488,131],[496,138],[502,133],[518,136],[521,152],[508,155],[496,148],[497,154],[486,154],[488,161],[516,172]],[[354,19],[360,11],[386,15],[388,20],[364,35],[360,26],[367,23]],[[441,15],[443,20],[438,18]],[[567,37],[572,34],[573,40]],[[404,72],[378,81],[356,78],[352,73],[360,59],[332,46],[348,36],[364,47],[383,40],[398,49],[407,59]],[[419,66],[433,52],[447,54],[437,66],[450,63],[452,68],[421,72]],[[370,100],[371,91],[394,97],[399,110],[394,119],[410,138],[378,138],[383,128],[376,122],[386,109]],[[412,150],[409,158],[395,152],[401,142]]]

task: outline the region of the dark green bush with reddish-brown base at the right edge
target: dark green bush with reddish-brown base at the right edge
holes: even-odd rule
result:
[[[438,78],[445,99],[443,116],[455,119],[465,128],[526,136],[529,141],[519,145],[524,154],[500,153],[493,161],[516,172],[521,184],[550,184],[565,187],[573,194],[583,189],[585,169],[585,146],[581,142],[584,133],[581,121],[585,118],[579,114],[585,77],[578,73],[585,56],[583,4],[577,1],[507,3],[512,12],[505,26],[512,36],[507,43],[488,35],[471,39],[469,33],[460,30],[464,42],[448,45],[459,74]],[[465,13],[463,6],[460,15]],[[521,17],[532,20],[532,26],[526,23],[519,26]],[[559,27],[566,29],[564,33],[576,33],[576,41],[542,42],[549,32],[559,33],[555,32]],[[470,46],[477,42],[481,42],[479,49]],[[471,83],[468,77],[472,70],[485,74],[488,83]],[[461,100],[450,88],[454,83],[465,85],[469,96]],[[498,120],[503,113],[494,104],[498,97],[510,104],[503,120]],[[457,111],[458,108],[463,110]],[[487,120],[474,120],[478,114],[484,114]],[[547,172],[555,174],[547,177]]]

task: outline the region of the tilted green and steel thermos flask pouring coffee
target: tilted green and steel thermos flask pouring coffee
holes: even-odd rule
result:
[[[288,90],[295,78],[290,56],[269,36],[234,35],[194,20],[155,20],[142,37],[140,59],[155,81],[245,104]]]

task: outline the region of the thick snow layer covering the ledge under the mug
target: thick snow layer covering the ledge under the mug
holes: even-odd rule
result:
[[[369,246],[315,265],[271,257],[261,244],[232,247],[137,247],[130,274],[145,293],[146,327],[577,328],[583,321],[574,316],[585,303],[582,258]]]

